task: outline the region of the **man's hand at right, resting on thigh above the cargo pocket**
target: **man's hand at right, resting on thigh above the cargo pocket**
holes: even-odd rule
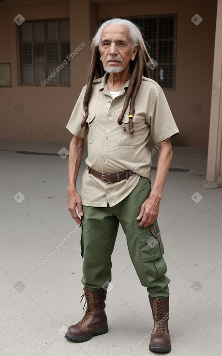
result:
[[[158,197],[149,196],[142,204],[140,213],[136,220],[141,220],[140,227],[148,227],[157,221],[161,199]]]

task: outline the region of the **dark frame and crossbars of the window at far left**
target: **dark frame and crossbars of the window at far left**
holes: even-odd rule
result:
[[[23,50],[22,50],[22,45],[25,43],[31,43],[31,53],[32,53],[32,67],[33,67],[33,77],[35,81],[35,66],[38,65],[43,65],[43,64],[35,64],[35,57],[34,57],[34,48],[35,44],[41,44],[44,43],[44,68],[45,68],[45,78],[46,80],[50,75],[51,71],[48,70],[48,65],[60,65],[65,58],[61,58],[61,45],[62,43],[68,43],[70,44],[70,40],[61,40],[60,36],[60,26],[61,26],[61,21],[70,21],[69,18],[49,18],[49,19],[38,19],[38,20],[27,20],[25,23],[31,23],[32,24],[32,42],[30,41],[23,41],[22,40],[22,25],[18,28],[18,38],[19,38],[19,60],[20,60],[20,83],[19,85],[21,86],[41,86],[41,82],[33,82],[33,83],[25,83],[23,82],[23,66],[24,65],[30,65],[30,64],[24,64],[23,63]],[[47,40],[47,22],[58,22],[59,28],[59,40]],[[36,41],[34,40],[34,23],[44,23],[44,42],[43,41]],[[58,56],[59,56],[59,62],[58,63],[48,63],[48,51],[47,51],[47,44],[48,43],[58,43]],[[67,64],[70,67],[70,63]],[[69,83],[62,83],[62,69],[57,73],[57,76],[59,76],[59,83],[52,83],[49,81],[49,83],[45,83],[45,86],[71,86],[71,82]]]

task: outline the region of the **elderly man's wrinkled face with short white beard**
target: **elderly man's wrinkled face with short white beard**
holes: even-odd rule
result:
[[[132,50],[130,30],[123,25],[110,24],[104,27],[101,35],[100,60],[104,70],[109,73],[119,73],[130,68],[138,46]]]

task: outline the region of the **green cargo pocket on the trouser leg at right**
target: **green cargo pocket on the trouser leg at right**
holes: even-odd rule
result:
[[[148,227],[137,227],[140,255],[148,282],[160,278],[166,273],[163,259],[163,242],[158,222]],[[146,229],[146,231],[144,231]]]

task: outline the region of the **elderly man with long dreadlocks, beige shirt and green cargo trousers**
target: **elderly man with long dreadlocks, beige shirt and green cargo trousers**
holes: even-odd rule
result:
[[[141,32],[131,21],[108,20],[92,40],[88,84],[67,125],[74,134],[69,154],[69,210],[78,224],[83,220],[82,297],[86,297],[87,309],[82,320],[68,328],[65,338],[83,342],[108,331],[104,301],[120,223],[133,266],[149,293],[154,319],[149,349],[170,352],[170,280],[165,275],[157,216],[172,159],[170,137],[179,131],[163,90],[149,79],[149,59]],[[152,190],[150,135],[159,148]],[[80,197],[75,183],[85,137],[88,169]]]

